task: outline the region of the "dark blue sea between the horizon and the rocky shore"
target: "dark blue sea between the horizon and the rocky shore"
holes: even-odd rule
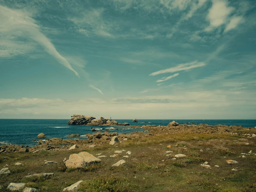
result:
[[[104,132],[106,128],[111,126],[87,126],[87,125],[67,125],[68,119],[0,119],[0,145],[1,143],[12,143],[17,145],[34,146],[39,139],[36,136],[39,133],[44,133],[46,138],[62,138],[67,139],[68,134],[87,134],[93,133],[91,127],[102,128]],[[244,127],[255,127],[256,120],[138,120],[138,123],[131,122],[132,120],[120,119],[119,123],[127,122],[130,125],[167,125],[171,121],[176,121],[180,124],[209,124],[209,125],[242,125]],[[134,131],[143,131],[143,129],[129,129],[129,127],[112,126],[123,130],[111,130],[118,133],[130,134]],[[110,132],[110,131],[109,131]],[[70,138],[70,137],[69,137]],[[78,137],[79,139],[86,139]],[[74,138],[72,138],[74,139]]]

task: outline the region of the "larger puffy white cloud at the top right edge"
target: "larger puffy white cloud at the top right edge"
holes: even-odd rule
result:
[[[225,24],[228,16],[234,10],[233,7],[228,7],[226,0],[213,0],[212,7],[209,10],[207,19],[210,21],[210,26],[206,27],[206,31],[211,31],[216,27]]]

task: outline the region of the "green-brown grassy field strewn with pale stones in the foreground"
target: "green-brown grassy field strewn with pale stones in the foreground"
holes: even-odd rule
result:
[[[0,176],[0,191],[8,191],[9,183],[26,183],[39,191],[63,191],[63,188],[83,180],[77,191],[256,191],[256,145],[255,138],[223,134],[164,134],[142,139],[129,138],[116,146],[97,145],[72,151],[41,151],[39,153],[0,154],[0,168],[7,167],[11,173]],[[170,145],[171,147],[167,147]],[[125,150],[118,157],[116,150]],[[244,155],[242,158],[241,153]],[[101,163],[84,169],[66,169],[62,160],[70,154],[87,151],[94,156],[102,153]],[[126,154],[131,151],[132,154]],[[166,151],[173,151],[169,156]],[[186,157],[172,160],[176,154]],[[128,158],[123,156],[128,155]],[[9,158],[6,158],[9,157]],[[125,164],[112,167],[124,159]],[[227,164],[226,160],[237,164]],[[44,165],[45,160],[58,164]],[[211,169],[200,166],[207,161]],[[22,163],[23,166],[14,165]],[[218,165],[220,167],[215,167]],[[237,171],[232,171],[235,168]],[[35,173],[54,173],[49,178],[30,177]],[[225,189],[225,190],[223,190]],[[229,190],[227,190],[229,189]],[[237,190],[235,190],[237,189]]]

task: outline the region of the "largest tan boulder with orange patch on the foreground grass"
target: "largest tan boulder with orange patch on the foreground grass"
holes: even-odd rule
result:
[[[65,162],[67,168],[83,168],[90,164],[100,163],[101,160],[94,157],[88,152],[80,152],[79,154],[72,154],[69,159]]]

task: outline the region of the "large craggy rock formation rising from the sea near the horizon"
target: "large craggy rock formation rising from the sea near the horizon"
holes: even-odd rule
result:
[[[84,115],[72,115],[71,120],[69,120],[68,125],[108,125],[108,126],[127,126],[128,123],[118,123],[116,120],[110,121],[109,119],[96,119],[93,116]]]

